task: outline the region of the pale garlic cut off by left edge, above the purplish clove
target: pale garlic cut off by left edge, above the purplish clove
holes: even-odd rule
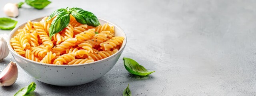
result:
[[[9,54],[7,42],[4,38],[0,37],[0,61],[6,58]]]

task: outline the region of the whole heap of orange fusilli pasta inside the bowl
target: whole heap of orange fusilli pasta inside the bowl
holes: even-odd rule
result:
[[[85,64],[107,58],[121,47],[124,37],[114,37],[114,26],[108,23],[93,27],[80,24],[70,15],[70,23],[49,38],[52,20],[28,21],[11,38],[15,52],[30,60],[46,64]]]

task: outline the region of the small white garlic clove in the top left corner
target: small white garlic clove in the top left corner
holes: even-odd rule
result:
[[[7,3],[4,5],[4,13],[9,17],[19,16],[19,9],[16,4]]]

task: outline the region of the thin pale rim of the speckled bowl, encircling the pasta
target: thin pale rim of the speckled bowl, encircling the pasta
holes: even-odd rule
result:
[[[30,20],[30,21],[36,21],[36,20],[42,19],[42,18],[44,18],[44,17],[45,17],[45,16],[40,17],[40,18],[36,18],[36,19],[33,19],[33,20]],[[118,52],[116,52],[115,54],[113,54],[113,55],[111,55],[111,56],[109,56],[109,57],[107,57],[107,58],[104,58],[104,59],[102,59],[102,60],[97,60],[97,61],[94,61],[94,62],[84,63],[84,64],[58,65],[58,64],[45,64],[45,63],[35,62],[35,61],[33,61],[33,60],[29,60],[29,59],[27,59],[27,58],[21,56],[20,54],[18,54],[17,52],[14,51],[14,49],[13,49],[12,46],[10,45],[10,40],[11,40],[12,36],[14,36],[14,32],[16,32],[18,29],[20,29],[21,26],[27,24],[27,22],[24,22],[24,23],[20,24],[19,26],[15,27],[15,28],[10,32],[10,34],[9,34],[9,36],[8,36],[8,39],[7,39],[7,40],[8,40],[8,41],[7,41],[7,45],[8,45],[8,48],[9,48],[9,50],[10,50],[10,52],[11,52],[12,55],[18,56],[19,58],[22,58],[22,59],[24,59],[24,60],[26,60],[26,61],[28,61],[28,62],[31,62],[32,64],[46,65],[46,66],[66,67],[66,66],[84,66],[84,65],[88,65],[88,64],[96,64],[96,63],[99,63],[99,62],[104,62],[104,61],[106,61],[106,60],[108,60],[108,59],[110,59],[110,58],[113,58],[113,57],[116,56],[117,54],[121,54],[120,52],[122,52],[122,51],[124,50],[125,46],[126,46],[126,42],[127,42],[127,39],[126,39],[126,38],[127,38],[127,37],[126,37],[126,34],[124,33],[124,30],[122,30],[122,28],[120,28],[120,26],[118,26],[117,24],[114,24],[114,23],[109,22],[108,20],[105,20],[105,19],[102,19],[102,18],[98,18],[98,19],[99,19],[99,20],[103,20],[103,21],[105,21],[105,22],[108,22],[109,24],[115,26],[115,29],[118,28],[119,30],[121,30],[122,34],[124,34],[124,41],[123,41],[123,43],[122,43],[121,48],[118,50]]]

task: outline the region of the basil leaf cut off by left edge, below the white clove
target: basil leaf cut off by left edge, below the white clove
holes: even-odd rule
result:
[[[0,18],[0,29],[9,30],[16,26],[18,22],[10,18]]]

